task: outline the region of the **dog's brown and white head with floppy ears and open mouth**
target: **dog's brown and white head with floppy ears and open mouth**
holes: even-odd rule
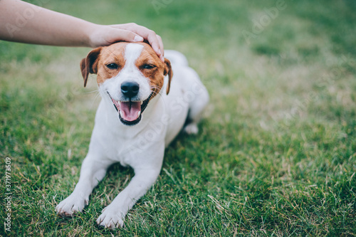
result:
[[[148,102],[162,89],[164,76],[169,75],[166,93],[172,79],[168,59],[158,58],[147,43],[114,43],[95,48],[80,62],[87,83],[89,73],[98,75],[97,81],[103,96],[112,104],[125,125],[136,125]]]

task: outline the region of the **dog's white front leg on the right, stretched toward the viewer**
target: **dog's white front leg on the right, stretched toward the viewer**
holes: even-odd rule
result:
[[[112,229],[122,227],[127,211],[155,183],[160,169],[161,165],[154,168],[135,169],[135,177],[132,178],[130,184],[115,197],[109,206],[103,209],[97,220],[98,225]]]

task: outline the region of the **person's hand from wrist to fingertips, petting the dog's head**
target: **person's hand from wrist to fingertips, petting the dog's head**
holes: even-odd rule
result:
[[[117,41],[142,42],[148,41],[157,56],[164,61],[164,48],[162,38],[150,29],[137,25],[136,23],[125,23],[119,25],[95,25],[90,28],[90,46],[93,48],[109,46]]]

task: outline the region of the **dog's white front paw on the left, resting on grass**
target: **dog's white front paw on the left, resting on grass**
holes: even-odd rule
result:
[[[63,217],[73,216],[75,213],[82,212],[85,205],[88,205],[88,201],[87,198],[70,194],[70,196],[57,205],[57,214]]]

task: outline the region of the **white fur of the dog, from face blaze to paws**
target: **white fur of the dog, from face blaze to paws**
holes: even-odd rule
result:
[[[56,207],[62,216],[83,211],[91,192],[105,177],[108,167],[120,162],[123,166],[132,167],[135,177],[103,209],[97,223],[107,228],[123,226],[127,211],[156,181],[162,167],[164,148],[182,130],[187,117],[190,123],[184,130],[194,134],[198,132],[197,122],[209,101],[209,95],[197,73],[188,67],[187,59],[177,51],[166,52],[174,71],[169,94],[165,93],[166,77],[159,95],[149,102],[137,125],[127,126],[120,122],[107,91],[112,98],[120,100],[121,83],[135,81],[140,85],[140,98],[148,98],[151,93],[149,78],[145,78],[135,66],[142,48],[140,44],[128,44],[125,48],[125,68],[114,78],[99,85],[102,100],[96,112],[89,151],[73,193]]]

